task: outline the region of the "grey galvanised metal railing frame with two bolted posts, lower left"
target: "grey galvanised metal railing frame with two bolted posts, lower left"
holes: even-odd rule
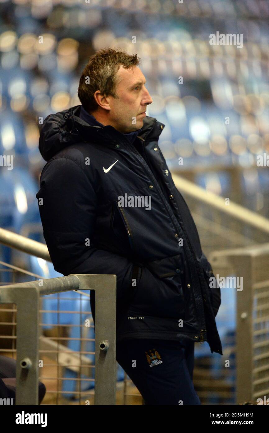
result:
[[[71,274],[0,287],[0,304],[17,306],[16,404],[38,404],[40,297],[95,291],[95,404],[116,398],[116,275]]]

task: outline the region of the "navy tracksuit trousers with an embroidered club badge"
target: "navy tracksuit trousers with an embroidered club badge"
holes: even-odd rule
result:
[[[194,342],[125,340],[117,343],[116,359],[145,404],[201,404],[193,386]]]

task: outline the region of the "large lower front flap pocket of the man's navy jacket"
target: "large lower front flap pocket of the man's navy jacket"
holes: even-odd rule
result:
[[[181,272],[180,255],[148,262],[141,268],[130,310],[139,315],[184,319]]]

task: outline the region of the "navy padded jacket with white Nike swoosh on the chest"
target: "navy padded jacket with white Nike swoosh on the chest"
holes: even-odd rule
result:
[[[146,116],[131,143],[113,126],[89,125],[80,107],[47,116],[39,140],[47,164],[36,197],[54,269],[117,276],[118,341],[207,341],[222,355],[220,289],[209,287],[211,265],[158,147],[165,125]],[[150,196],[151,209],[118,206],[125,194]],[[91,291],[95,321],[94,304]]]

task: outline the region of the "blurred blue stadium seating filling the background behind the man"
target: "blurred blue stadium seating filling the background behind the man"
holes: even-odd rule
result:
[[[217,31],[243,34],[243,47],[210,45],[209,35]],[[0,155],[14,155],[12,170],[0,167],[0,227],[44,243],[35,198],[45,164],[39,129],[48,114],[80,104],[81,71],[89,56],[105,47],[142,58],[153,99],[147,113],[165,124],[159,145],[171,171],[267,218],[269,170],[258,167],[256,158],[269,154],[268,42],[269,2],[264,0],[0,0]],[[228,214],[224,202],[223,210],[216,209],[188,185],[182,192],[206,255],[269,242],[268,228],[253,227],[251,216],[242,222],[236,210]],[[61,276],[43,259],[0,247],[1,284]],[[92,362],[93,331],[83,341],[81,334],[71,339],[74,325],[90,314],[89,297],[70,293],[69,298],[47,297],[41,332],[74,351],[88,344],[83,350]],[[222,290],[217,317],[231,360],[229,373],[207,343],[196,345],[194,382],[202,404],[235,403],[235,297]],[[16,309],[1,309],[0,351],[15,357]],[[48,358],[42,375],[45,404],[85,404],[89,382],[81,369]],[[215,388],[210,388],[212,377]],[[118,389],[124,392],[119,404],[141,404],[137,390],[123,378],[119,368]]]

